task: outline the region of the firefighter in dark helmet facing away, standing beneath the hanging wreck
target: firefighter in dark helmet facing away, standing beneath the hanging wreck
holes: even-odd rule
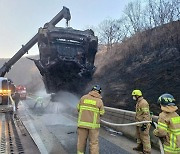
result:
[[[101,87],[96,85],[87,95],[81,97],[77,109],[79,112],[77,153],[84,154],[89,138],[90,154],[99,154],[100,116],[105,112]]]

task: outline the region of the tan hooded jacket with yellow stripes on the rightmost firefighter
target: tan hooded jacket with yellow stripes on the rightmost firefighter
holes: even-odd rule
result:
[[[162,107],[161,107],[162,109]],[[163,107],[166,111],[159,114],[158,126],[154,135],[163,138],[164,151],[180,153],[180,116],[175,112],[177,107]],[[169,111],[169,112],[167,112]]]

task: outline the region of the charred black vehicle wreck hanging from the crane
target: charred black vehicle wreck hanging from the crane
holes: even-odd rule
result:
[[[35,61],[48,93],[77,92],[91,80],[98,39],[92,30],[45,24],[38,32],[40,59]]]

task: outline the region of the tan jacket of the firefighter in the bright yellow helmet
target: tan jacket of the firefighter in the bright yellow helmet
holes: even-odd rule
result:
[[[136,121],[150,121],[150,111],[149,111],[149,104],[148,102],[143,98],[138,98],[137,104],[136,104]]]

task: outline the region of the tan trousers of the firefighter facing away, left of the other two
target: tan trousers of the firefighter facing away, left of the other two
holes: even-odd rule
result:
[[[77,153],[84,154],[89,138],[90,154],[99,154],[99,129],[78,128]]]

